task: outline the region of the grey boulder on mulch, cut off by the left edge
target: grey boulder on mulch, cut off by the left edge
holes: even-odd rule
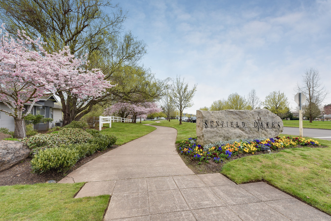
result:
[[[0,140],[0,172],[29,156],[31,150],[16,140]]]

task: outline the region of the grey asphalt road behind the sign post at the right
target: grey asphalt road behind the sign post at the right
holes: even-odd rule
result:
[[[331,130],[304,128],[302,133],[304,137],[331,140]],[[284,127],[282,134],[299,136],[299,128]]]

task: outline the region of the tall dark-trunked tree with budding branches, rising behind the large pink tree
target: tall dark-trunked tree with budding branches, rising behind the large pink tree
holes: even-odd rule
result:
[[[123,33],[126,14],[107,0],[6,0],[0,1],[0,12],[11,34],[25,29],[28,36],[47,42],[49,53],[64,46],[76,56],[87,53],[90,67],[100,68],[105,80],[115,81],[118,76],[112,77],[122,67],[134,66],[146,53],[143,41]],[[71,92],[56,95],[62,103],[63,125],[79,120],[107,98],[105,93],[84,99]]]

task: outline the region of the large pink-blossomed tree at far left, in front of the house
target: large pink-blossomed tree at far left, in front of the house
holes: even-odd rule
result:
[[[74,58],[68,47],[49,54],[39,38],[33,40],[25,31],[18,31],[19,38],[14,39],[7,32],[3,33],[4,24],[1,28],[0,101],[10,111],[0,111],[14,118],[15,137],[26,136],[24,117],[41,96],[69,91],[84,98],[98,96],[104,88],[113,86],[103,80],[100,70],[83,69],[87,61],[83,57]],[[30,104],[25,114],[24,103]]]

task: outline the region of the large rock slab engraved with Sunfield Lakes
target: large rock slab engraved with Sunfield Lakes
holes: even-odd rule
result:
[[[267,109],[197,110],[197,143],[243,138],[274,138],[283,132],[283,121]]]

